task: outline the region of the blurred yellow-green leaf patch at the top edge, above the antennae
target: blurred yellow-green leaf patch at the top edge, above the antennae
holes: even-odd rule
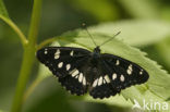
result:
[[[119,16],[117,5],[109,0],[70,0],[70,4],[75,10],[86,11],[97,21],[112,21]]]

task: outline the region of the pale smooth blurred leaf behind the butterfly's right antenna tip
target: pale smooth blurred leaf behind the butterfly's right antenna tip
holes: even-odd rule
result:
[[[133,20],[117,23],[104,23],[89,27],[90,33],[105,34],[112,37],[121,32],[117,37],[131,46],[142,47],[159,42],[170,36],[170,24],[162,21]]]

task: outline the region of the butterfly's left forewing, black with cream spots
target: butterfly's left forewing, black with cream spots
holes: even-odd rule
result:
[[[58,77],[64,77],[72,70],[85,64],[89,51],[78,48],[46,47],[38,50],[38,60]]]

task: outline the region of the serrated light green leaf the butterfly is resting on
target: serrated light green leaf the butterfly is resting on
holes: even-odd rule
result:
[[[99,25],[98,27],[90,28],[90,30],[96,30],[96,28],[101,30],[102,25]],[[108,30],[109,28],[105,27],[105,30]],[[96,33],[92,34],[95,38],[95,41],[97,45],[100,45],[102,41],[107,40],[107,36],[98,35]],[[118,36],[120,38],[121,35]],[[64,47],[81,47],[88,50],[94,49],[94,43],[92,42],[90,38],[87,36],[86,32],[84,30],[75,30],[75,32],[69,32],[66,34],[63,34],[60,37],[57,37],[57,40],[54,45]],[[101,52],[107,52],[111,54],[119,55],[121,58],[127,59],[132,62],[137,63],[142,67],[144,67],[149,73],[149,79],[146,84],[139,85],[139,86],[132,86],[125,90],[122,90],[121,95],[127,99],[131,100],[134,103],[134,99],[138,101],[138,103],[143,107],[144,100],[146,102],[150,101],[157,101],[160,103],[169,103],[168,100],[170,98],[170,75],[161,70],[160,65],[158,65],[156,62],[151,61],[150,59],[146,58],[146,53],[142,52],[141,50],[130,47],[127,43],[124,43],[117,38],[114,38],[112,41],[106,43],[101,47]],[[44,70],[44,69],[41,69]],[[39,74],[40,75],[40,74]],[[122,105],[130,107],[132,105],[131,102],[126,102],[121,97],[111,97],[106,100],[98,100],[98,102],[108,103],[108,104],[120,104],[123,102]],[[118,100],[117,100],[118,99]],[[87,101],[97,101],[89,98],[89,96],[85,97],[85,100]],[[113,102],[113,103],[111,103]],[[170,103],[169,103],[170,104]],[[158,107],[156,107],[158,110]]]

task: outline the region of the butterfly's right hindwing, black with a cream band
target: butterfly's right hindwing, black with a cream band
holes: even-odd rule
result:
[[[96,71],[96,77],[94,77],[89,89],[89,95],[93,96],[93,98],[109,98],[120,92],[120,90],[113,88],[111,83],[112,70],[108,69],[104,60],[100,59]]]

